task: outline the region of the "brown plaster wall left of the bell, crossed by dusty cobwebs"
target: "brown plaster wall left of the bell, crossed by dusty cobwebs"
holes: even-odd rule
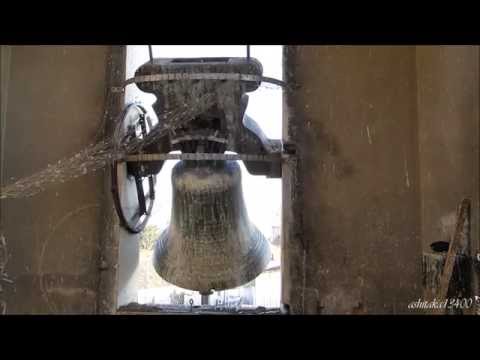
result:
[[[103,127],[107,46],[11,48],[5,182],[31,175],[95,141]],[[7,313],[97,310],[104,173],[3,201],[11,256]]]

